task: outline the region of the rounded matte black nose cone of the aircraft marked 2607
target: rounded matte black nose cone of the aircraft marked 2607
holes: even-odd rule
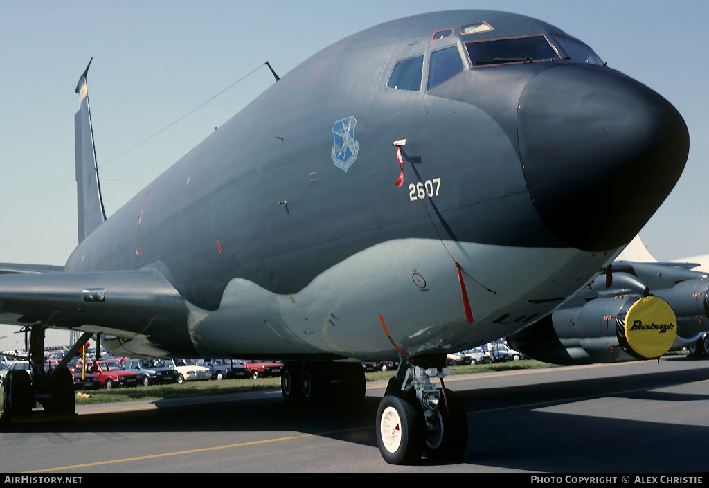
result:
[[[518,135],[527,189],[542,221],[567,245],[625,245],[684,168],[689,134],[668,101],[624,74],[563,65],[520,96]]]

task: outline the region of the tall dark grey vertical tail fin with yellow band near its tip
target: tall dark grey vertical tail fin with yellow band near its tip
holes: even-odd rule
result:
[[[91,60],[94,58],[92,57]],[[101,197],[101,182],[99,182],[99,166],[96,164],[94,132],[91,128],[89,93],[86,91],[86,73],[89,72],[89,66],[91,66],[91,61],[77,84],[79,111],[74,115],[79,243],[106,221],[104,200]]]

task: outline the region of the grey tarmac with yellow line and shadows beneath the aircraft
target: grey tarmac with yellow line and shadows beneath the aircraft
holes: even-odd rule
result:
[[[469,422],[461,460],[387,465],[359,409],[287,408],[279,391],[77,407],[2,426],[0,472],[601,472],[709,470],[709,360],[454,375]],[[709,478],[708,478],[709,479]]]

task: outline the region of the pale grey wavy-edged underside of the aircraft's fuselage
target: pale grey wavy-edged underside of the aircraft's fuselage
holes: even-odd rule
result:
[[[593,277],[576,276],[576,265],[600,270],[612,258],[573,249],[391,240],[330,267],[295,294],[233,279],[218,310],[189,305],[189,331],[204,357],[384,360],[400,351],[451,353],[549,313]],[[464,273],[472,323],[454,260]]]

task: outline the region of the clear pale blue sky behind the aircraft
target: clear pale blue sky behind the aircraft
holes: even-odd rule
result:
[[[77,244],[74,88],[91,57],[91,115],[110,216],[274,79],[259,70],[116,157],[264,61],[284,74],[358,30],[450,9],[540,18],[581,38],[608,66],[671,101],[690,131],[689,159],[679,184],[640,235],[660,260],[709,253],[708,1],[3,0],[0,262],[64,265]],[[579,209],[579,218],[584,212]]]

